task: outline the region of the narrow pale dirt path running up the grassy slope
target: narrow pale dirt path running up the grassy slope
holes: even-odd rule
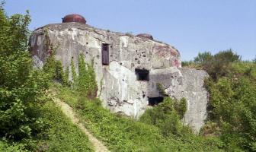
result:
[[[75,116],[75,112],[73,112],[72,107],[70,107],[68,104],[62,102],[59,99],[52,98],[53,101],[61,108],[62,112],[69,117],[69,119],[72,120],[72,122],[75,125],[78,125],[78,127],[85,133],[85,135],[88,136],[89,141],[93,144],[94,150],[96,152],[106,152],[109,151],[107,150],[107,147],[104,146],[104,144],[101,143],[101,141],[98,141],[97,138],[94,138],[93,135],[85,128],[85,126],[79,122],[79,119]]]

